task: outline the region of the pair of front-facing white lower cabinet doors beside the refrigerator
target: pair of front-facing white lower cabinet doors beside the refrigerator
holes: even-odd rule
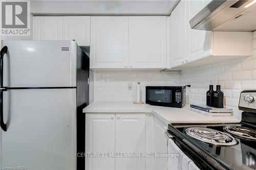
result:
[[[145,169],[145,158],[121,154],[145,152],[145,113],[87,113],[86,153],[116,157],[86,158],[86,170]]]

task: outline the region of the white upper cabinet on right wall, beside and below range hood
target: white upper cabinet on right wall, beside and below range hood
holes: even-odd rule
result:
[[[186,64],[186,68],[195,67],[251,55],[251,32],[203,31],[190,28],[189,20],[208,3],[209,1],[181,0],[167,18],[170,68],[186,63],[190,63]]]

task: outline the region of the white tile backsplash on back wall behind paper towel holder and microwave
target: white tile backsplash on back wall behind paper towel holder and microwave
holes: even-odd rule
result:
[[[160,71],[95,71],[94,101],[136,101],[136,84],[141,82],[142,101],[145,102],[145,86],[174,86],[179,83],[179,74],[164,74]],[[132,90],[128,89],[129,82]]]

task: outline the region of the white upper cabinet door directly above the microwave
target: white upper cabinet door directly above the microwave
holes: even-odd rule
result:
[[[129,17],[129,67],[166,68],[166,16]]]

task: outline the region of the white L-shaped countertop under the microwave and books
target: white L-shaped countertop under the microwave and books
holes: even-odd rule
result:
[[[239,123],[241,119],[236,116],[206,116],[188,109],[147,104],[134,104],[133,102],[93,102],[83,109],[84,113],[153,113],[165,124],[172,123]]]

